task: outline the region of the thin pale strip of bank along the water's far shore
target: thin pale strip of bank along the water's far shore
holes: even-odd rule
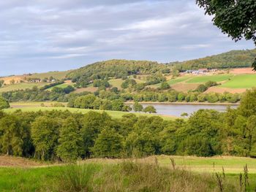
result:
[[[127,101],[125,104],[134,104],[134,101]],[[153,102],[153,101],[142,101],[139,104],[192,104],[192,105],[239,105],[240,103],[208,103],[208,102]]]

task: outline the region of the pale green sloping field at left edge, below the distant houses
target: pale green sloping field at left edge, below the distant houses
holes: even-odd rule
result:
[[[44,85],[47,85],[48,82],[22,82],[13,85],[4,85],[4,87],[0,88],[0,93],[7,91],[15,91],[15,90],[24,90],[26,88],[33,88],[37,86],[38,88],[42,88]]]

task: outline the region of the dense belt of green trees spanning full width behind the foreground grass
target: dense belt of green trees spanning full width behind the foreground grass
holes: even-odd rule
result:
[[[199,110],[188,120],[107,113],[0,113],[0,151],[45,161],[148,155],[256,156],[256,89],[237,110]]]

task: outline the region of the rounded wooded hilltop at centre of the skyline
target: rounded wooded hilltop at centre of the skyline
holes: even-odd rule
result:
[[[155,61],[109,60],[84,66],[67,74],[78,85],[89,84],[91,80],[125,78],[132,74],[170,73],[170,66]]]

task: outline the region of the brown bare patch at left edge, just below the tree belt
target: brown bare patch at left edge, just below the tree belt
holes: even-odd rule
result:
[[[32,161],[27,158],[12,157],[8,155],[0,155],[0,166],[18,166],[18,167],[31,167],[43,166],[44,164]]]

